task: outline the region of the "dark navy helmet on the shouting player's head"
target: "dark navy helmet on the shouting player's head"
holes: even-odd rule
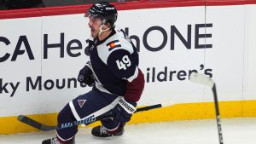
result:
[[[112,4],[108,2],[99,2],[93,4],[84,16],[98,17],[103,21],[103,24],[109,23],[113,26],[114,22],[117,20],[118,13]]]

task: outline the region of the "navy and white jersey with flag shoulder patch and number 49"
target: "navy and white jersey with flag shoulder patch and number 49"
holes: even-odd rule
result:
[[[129,86],[129,83],[138,76],[143,77],[138,68],[137,49],[130,37],[127,37],[122,30],[115,28],[104,40],[94,40],[94,43],[95,45],[90,45],[89,52],[91,70],[96,79],[96,89],[119,96],[125,96],[127,85],[131,93],[133,93],[132,90],[143,90],[143,78],[137,81],[143,79],[143,82],[139,82],[143,84],[134,83],[132,84],[134,86]]]

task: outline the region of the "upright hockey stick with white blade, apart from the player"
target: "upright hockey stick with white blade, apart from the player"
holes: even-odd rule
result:
[[[218,139],[219,139],[219,143],[223,144],[224,142],[223,142],[221,123],[220,123],[219,109],[218,109],[218,96],[217,96],[216,84],[213,82],[211,78],[208,78],[205,74],[199,74],[195,72],[191,73],[189,80],[194,83],[207,85],[212,89],[212,93],[214,96],[216,120],[217,120],[217,126],[218,126]]]

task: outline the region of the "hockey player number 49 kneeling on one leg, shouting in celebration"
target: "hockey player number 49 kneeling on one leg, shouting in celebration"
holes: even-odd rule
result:
[[[136,111],[144,88],[138,68],[137,49],[123,30],[114,26],[117,10],[108,2],[93,4],[85,13],[89,19],[90,61],[80,70],[80,83],[93,85],[91,91],[70,101],[58,114],[58,124],[113,113],[91,130],[98,137],[122,135],[125,123]],[[56,130],[56,137],[43,144],[74,144],[78,127]]]

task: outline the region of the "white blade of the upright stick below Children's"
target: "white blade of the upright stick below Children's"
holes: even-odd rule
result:
[[[207,75],[202,74],[202,73],[196,73],[196,72],[191,73],[190,76],[189,76],[189,80],[191,82],[194,82],[194,83],[197,83],[197,84],[207,85],[210,88],[212,88],[213,85],[214,85],[214,82],[212,81],[212,79],[207,77]]]

